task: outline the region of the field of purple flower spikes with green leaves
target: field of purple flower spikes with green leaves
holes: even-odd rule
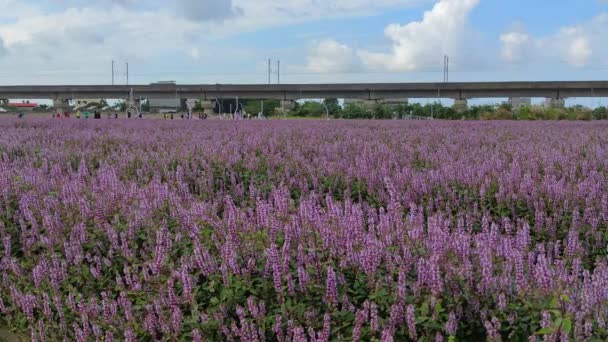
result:
[[[604,341],[608,124],[0,121],[32,341]]]

